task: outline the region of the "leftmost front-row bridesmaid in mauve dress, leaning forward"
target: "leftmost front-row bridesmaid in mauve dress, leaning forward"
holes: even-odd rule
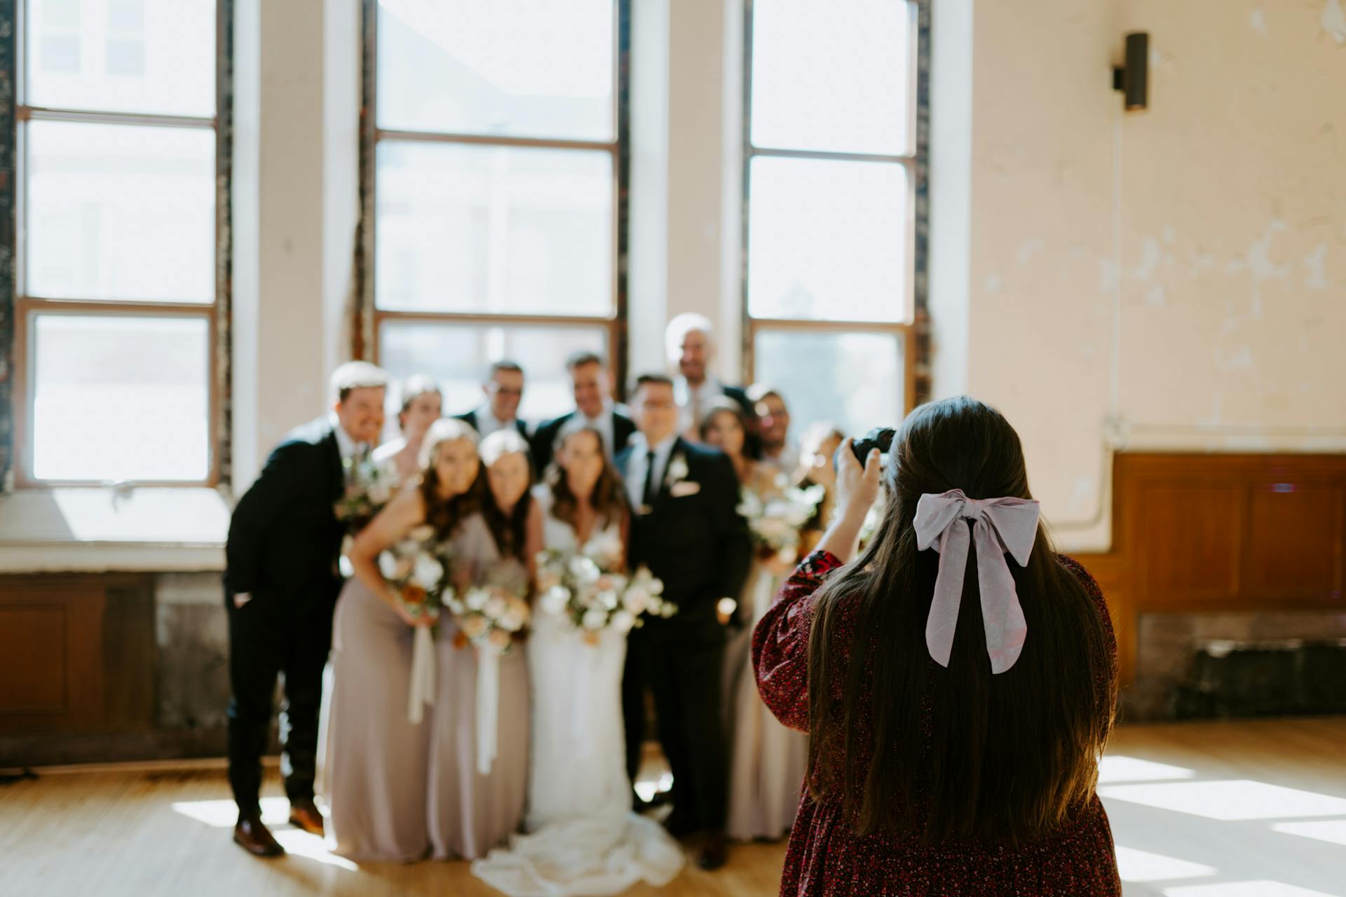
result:
[[[481,504],[476,448],[456,421],[429,426],[420,477],[355,538],[355,577],[336,602],[327,777],[335,850],[361,861],[415,861],[429,850],[425,804],[431,724],[406,718],[412,628],[427,625],[396,601],[378,554],[412,529],[450,538]],[[479,520],[475,515],[472,519]]]

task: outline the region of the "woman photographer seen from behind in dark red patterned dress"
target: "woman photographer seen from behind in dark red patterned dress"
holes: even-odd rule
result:
[[[1018,434],[954,398],[886,461],[847,441],[839,463],[837,519],[752,644],[767,705],[812,736],[781,893],[1120,894],[1094,792],[1112,624],[1038,522]]]

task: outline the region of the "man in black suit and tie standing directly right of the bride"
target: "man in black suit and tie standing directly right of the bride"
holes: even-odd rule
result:
[[[631,568],[647,565],[678,605],[629,636],[622,705],[627,772],[635,780],[645,741],[645,689],[654,695],[658,737],[673,771],[674,835],[704,832],[697,862],[719,869],[727,858],[725,734],[721,678],[721,598],[736,598],[747,576],[750,543],[739,518],[739,481],[720,451],[678,436],[673,382],[637,381],[631,413],[639,432],[616,459],[635,512]]]

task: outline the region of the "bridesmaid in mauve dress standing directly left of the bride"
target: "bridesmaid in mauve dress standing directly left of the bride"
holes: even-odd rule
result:
[[[447,424],[440,421],[436,426]],[[475,432],[460,424],[464,440]],[[503,585],[532,597],[533,558],[542,545],[542,518],[533,502],[528,444],[516,430],[482,440],[478,473],[482,512],[463,522],[452,541],[460,589]],[[435,746],[431,756],[429,838],[435,859],[475,859],[502,845],[524,819],[528,796],[528,664],[516,643],[499,658],[495,758],[478,772],[478,651],[440,623]]]

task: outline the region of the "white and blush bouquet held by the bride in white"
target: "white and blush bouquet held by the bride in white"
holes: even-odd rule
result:
[[[645,616],[677,613],[677,605],[662,597],[664,582],[649,568],[630,577],[615,572],[621,549],[621,538],[611,534],[590,539],[579,553],[552,549],[537,555],[542,609],[565,617],[590,644],[598,644],[608,627],[625,633],[643,625]]]

